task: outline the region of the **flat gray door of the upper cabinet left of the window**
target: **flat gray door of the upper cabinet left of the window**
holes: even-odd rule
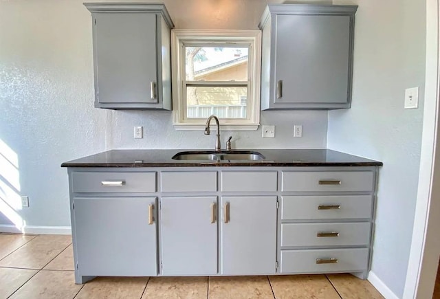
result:
[[[157,103],[156,15],[94,14],[98,103]]]

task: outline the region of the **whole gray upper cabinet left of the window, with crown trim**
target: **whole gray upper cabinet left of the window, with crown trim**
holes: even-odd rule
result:
[[[95,107],[171,109],[170,28],[163,4],[85,3],[92,15]]]

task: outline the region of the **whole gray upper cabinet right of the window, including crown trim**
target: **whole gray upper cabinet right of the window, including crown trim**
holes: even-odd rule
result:
[[[351,106],[356,5],[268,5],[263,30],[261,109]]]

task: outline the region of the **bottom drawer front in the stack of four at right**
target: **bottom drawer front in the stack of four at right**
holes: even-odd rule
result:
[[[368,261],[368,248],[281,250],[281,273],[360,272]]]

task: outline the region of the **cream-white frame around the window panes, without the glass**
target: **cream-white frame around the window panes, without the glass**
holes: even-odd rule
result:
[[[173,125],[177,131],[203,131],[206,119],[186,118],[186,63],[184,44],[212,43],[249,45],[247,118],[221,118],[223,131],[256,131],[260,124],[261,31],[260,30],[171,30],[173,74]],[[214,127],[212,127],[214,129]]]

